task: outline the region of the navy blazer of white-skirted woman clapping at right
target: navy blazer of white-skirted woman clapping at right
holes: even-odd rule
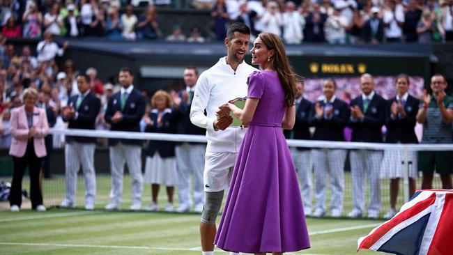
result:
[[[385,142],[390,144],[418,144],[417,136],[415,135],[415,124],[417,123],[417,112],[420,100],[409,95],[404,105],[406,116],[397,116],[392,118],[392,103],[397,102],[397,98],[392,98],[387,101],[385,127],[387,127],[387,136]]]

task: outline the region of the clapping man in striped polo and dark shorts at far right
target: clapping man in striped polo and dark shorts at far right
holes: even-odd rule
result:
[[[417,122],[423,124],[422,144],[451,144],[453,98],[445,93],[445,76],[436,74],[431,77],[431,91],[423,91],[422,107],[418,110]],[[423,173],[422,190],[432,189],[434,169],[440,174],[442,188],[451,190],[452,151],[420,151],[418,169]]]

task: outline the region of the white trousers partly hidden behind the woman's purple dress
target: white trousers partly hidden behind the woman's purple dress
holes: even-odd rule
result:
[[[291,148],[291,156],[295,170],[298,172],[300,180],[300,195],[302,196],[302,203],[304,204],[304,211],[307,213],[312,212],[312,153],[310,150],[297,150]]]

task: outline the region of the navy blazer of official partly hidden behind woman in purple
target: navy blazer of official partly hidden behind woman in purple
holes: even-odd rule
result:
[[[294,134],[293,139],[302,139],[309,140],[312,139],[312,134],[310,133],[309,127],[312,125],[312,111],[313,103],[305,98],[302,98],[298,109],[295,109],[295,123],[293,130],[284,130],[284,136],[286,139],[291,137],[291,133]],[[304,148],[299,148],[298,150],[303,150]],[[306,149],[306,148],[305,148]]]

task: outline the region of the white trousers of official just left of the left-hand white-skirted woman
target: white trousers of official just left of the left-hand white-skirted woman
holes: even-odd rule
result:
[[[110,171],[112,173],[111,203],[119,204],[123,193],[124,163],[128,164],[132,178],[132,204],[141,203],[143,174],[141,173],[141,146],[118,143],[109,147]]]

